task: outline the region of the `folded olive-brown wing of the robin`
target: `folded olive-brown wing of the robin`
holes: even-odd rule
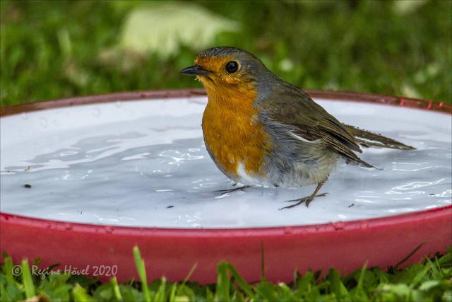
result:
[[[362,151],[345,125],[315,103],[301,88],[282,83],[261,105],[271,120],[295,127],[296,134],[303,139],[321,139],[326,148],[346,159],[374,168],[353,152]]]

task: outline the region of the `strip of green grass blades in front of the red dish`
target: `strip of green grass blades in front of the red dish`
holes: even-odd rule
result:
[[[216,284],[201,286],[188,278],[148,284],[138,248],[133,257],[140,280],[118,284],[114,277],[102,284],[69,274],[32,275],[27,260],[21,262],[22,274],[15,276],[11,257],[5,256],[0,265],[0,301],[452,301],[451,248],[404,269],[364,265],[347,276],[330,269],[325,277],[320,272],[295,272],[290,284],[273,284],[265,277],[248,284],[227,262],[218,264]]]

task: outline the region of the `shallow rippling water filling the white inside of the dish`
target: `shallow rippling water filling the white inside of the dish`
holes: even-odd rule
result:
[[[1,211],[121,226],[240,228],[368,219],[452,203],[451,116],[386,105],[319,100],[342,122],[415,146],[364,149],[382,170],[340,164],[326,197],[232,182],[201,132],[205,98],[83,105],[1,118]],[[31,185],[30,188],[24,187]]]

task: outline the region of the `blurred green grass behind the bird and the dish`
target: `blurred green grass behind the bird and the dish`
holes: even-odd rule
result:
[[[355,0],[195,2],[240,25],[237,32],[215,35],[206,47],[234,45],[254,52],[283,79],[302,88],[451,103],[450,0],[402,5]],[[189,45],[165,58],[126,53],[120,59],[105,59],[107,50],[119,42],[128,13],[145,5],[0,1],[1,106],[114,91],[200,87],[179,74],[198,52]]]

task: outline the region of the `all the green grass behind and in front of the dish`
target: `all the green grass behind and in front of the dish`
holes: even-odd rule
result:
[[[184,42],[173,37],[173,49],[165,40],[162,47],[146,52],[121,49],[131,13],[157,4],[0,1],[1,106],[115,91],[200,87],[179,70],[191,65],[198,51],[215,45],[249,50],[302,88],[452,100],[449,0],[191,1],[215,18],[234,21],[237,29],[215,32],[201,45],[194,43],[194,35],[193,41]],[[196,22],[194,18],[184,25]],[[211,28],[213,22],[201,24],[201,31]],[[155,29],[148,30],[152,35]],[[4,257],[0,300],[452,301],[451,259],[449,251],[405,269],[364,268],[345,277],[333,269],[323,279],[308,272],[295,275],[292,284],[246,284],[223,263],[216,284],[167,284],[162,279],[153,281],[145,294],[136,281],[100,284],[64,274],[14,277],[11,259]]]

